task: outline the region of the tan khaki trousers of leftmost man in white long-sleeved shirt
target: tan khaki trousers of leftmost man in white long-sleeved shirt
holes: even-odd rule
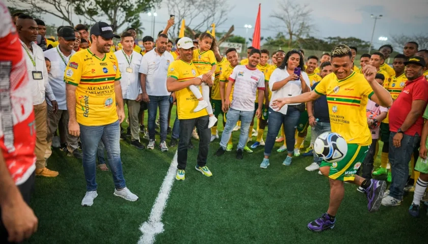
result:
[[[43,101],[42,104],[34,105],[34,116],[36,120],[36,148],[34,154],[36,155],[36,168],[43,169],[46,167],[46,160],[44,158],[47,147],[47,104]]]

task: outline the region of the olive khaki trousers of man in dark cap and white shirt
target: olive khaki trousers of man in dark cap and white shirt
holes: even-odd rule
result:
[[[47,121],[48,121],[48,135],[47,135],[47,148],[45,153],[45,158],[49,158],[52,154],[50,146],[52,145],[53,134],[57,131],[58,125],[62,121],[64,125],[64,134],[65,141],[67,143],[67,150],[72,153],[75,149],[79,147],[77,136],[72,136],[68,133],[68,111],[67,110],[58,110],[57,113],[53,113],[53,108],[49,104],[47,105]]]

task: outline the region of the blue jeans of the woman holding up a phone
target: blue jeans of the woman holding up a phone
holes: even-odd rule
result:
[[[228,116],[229,117],[229,116]],[[282,114],[269,108],[269,127],[268,135],[264,145],[264,156],[270,156],[272,148],[274,148],[276,136],[278,135],[281,126],[284,125],[285,144],[289,154],[294,152],[294,145],[296,142],[295,133],[297,123],[300,119],[300,111],[296,107],[288,106],[287,114]],[[291,149],[291,150],[290,150]]]

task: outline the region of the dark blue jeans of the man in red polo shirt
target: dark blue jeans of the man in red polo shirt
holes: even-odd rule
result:
[[[400,147],[395,147],[392,144],[396,132],[389,134],[389,153],[388,159],[391,164],[392,182],[389,187],[389,195],[395,199],[401,200],[404,194],[404,187],[409,178],[409,162],[413,154],[413,150],[420,143],[420,136],[403,135]]]

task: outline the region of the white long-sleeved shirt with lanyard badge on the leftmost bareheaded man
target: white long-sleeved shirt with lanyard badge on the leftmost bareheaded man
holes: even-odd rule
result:
[[[25,57],[26,68],[28,72],[28,79],[31,86],[31,93],[33,96],[33,105],[42,104],[45,101],[45,96],[50,100],[55,100],[55,95],[53,95],[52,88],[49,85],[48,74],[46,69],[46,63],[44,60],[43,50],[36,43],[32,42],[33,52],[26,47],[26,45],[19,40],[22,46],[23,56]],[[31,58],[35,62],[34,66]],[[42,72],[43,79],[35,80],[33,78],[33,71]]]

